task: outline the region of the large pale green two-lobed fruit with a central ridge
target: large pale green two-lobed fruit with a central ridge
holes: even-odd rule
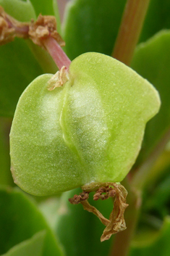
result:
[[[10,134],[14,182],[45,196],[119,182],[135,162],[158,92],[121,62],[98,53],[72,61],[69,80],[48,91],[41,75],[17,104]]]

